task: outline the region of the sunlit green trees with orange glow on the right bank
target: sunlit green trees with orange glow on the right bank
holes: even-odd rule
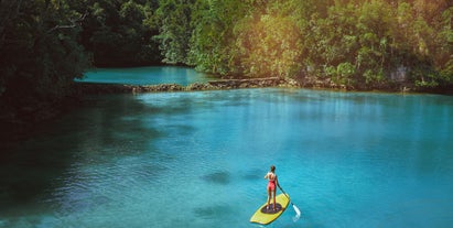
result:
[[[447,0],[161,0],[164,62],[362,89],[453,84]]]

